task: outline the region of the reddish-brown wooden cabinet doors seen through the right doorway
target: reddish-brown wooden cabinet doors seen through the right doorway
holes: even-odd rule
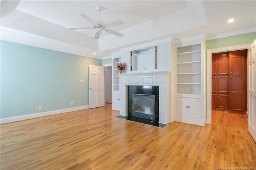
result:
[[[212,110],[245,115],[247,50],[212,53]]]

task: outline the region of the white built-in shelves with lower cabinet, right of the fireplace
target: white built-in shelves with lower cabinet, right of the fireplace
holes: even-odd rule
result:
[[[197,42],[200,43],[184,42],[176,46],[174,120],[204,126],[204,41]]]

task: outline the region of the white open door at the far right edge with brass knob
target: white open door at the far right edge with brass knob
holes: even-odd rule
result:
[[[248,49],[248,131],[256,141],[256,40]]]

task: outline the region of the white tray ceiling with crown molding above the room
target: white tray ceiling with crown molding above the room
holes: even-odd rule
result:
[[[256,31],[255,0],[2,0],[0,6],[1,40],[96,58],[163,38],[179,40],[206,34],[209,40]],[[69,29],[92,27],[79,14],[97,22],[96,6],[105,8],[100,12],[101,21],[124,21],[110,28],[124,37],[102,32],[101,38],[94,40],[95,29]],[[228,23],[230,18],[235,21]]]

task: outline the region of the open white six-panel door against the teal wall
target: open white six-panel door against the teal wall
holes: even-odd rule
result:
[[[89,108],[105,106],[104,67],[89,65]]]

